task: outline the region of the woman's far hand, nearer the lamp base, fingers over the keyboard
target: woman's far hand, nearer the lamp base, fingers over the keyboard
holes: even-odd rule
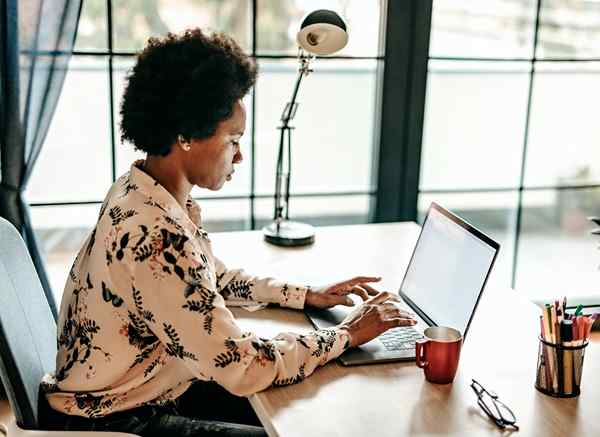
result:
[[[379,293],[367,283],[379,282],[381,278],[357,276],[347,281],[324,287],[312,288],[306,293],[305,304],[316,308],[331,308],[336,305],[354,306],[349,294],[360,296],[363,301]]]

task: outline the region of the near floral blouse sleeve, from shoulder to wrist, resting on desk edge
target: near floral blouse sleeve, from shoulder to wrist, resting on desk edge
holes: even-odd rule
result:
[[[138,316],[194,376],[247,396],[272,384],[299,382],[348,347],[348,332],[340,328],[270,340],[243,332],[211,285],[214,272],[200,245],[177,232],[155,228],[149,236],[153,249],[134,248],[127,264]],[[230,287],[232,281],[250,281],[229,274]],[[252,290],[264,290],[260,284]]]

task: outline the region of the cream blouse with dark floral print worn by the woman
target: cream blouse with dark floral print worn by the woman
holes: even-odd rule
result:
[[[307,287],[228,270],[211,249],[200,208],[182,208],[136,161],[110,188],[77,254],[58,320],[55,410],[101,417],[177,398],[196,380],[247,396],[302,381],[339,356],[347,331],[266,340],[227,306],[301,309]]]

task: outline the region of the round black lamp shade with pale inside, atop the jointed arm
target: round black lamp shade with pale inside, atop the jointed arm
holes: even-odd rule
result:
[[[331,55],[348,43],[346,23],[333,11],[319,9],[302,22],[296,37],[298,45],[314,55]]]

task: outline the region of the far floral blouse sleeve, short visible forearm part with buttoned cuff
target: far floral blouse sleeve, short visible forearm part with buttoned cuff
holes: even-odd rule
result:
[[[276,303],[283,307],[302,309],[310,287],[288,284],[273,278],[258,278],[242,269],[229,270],[214,257],[217,289],[228,306]]]

